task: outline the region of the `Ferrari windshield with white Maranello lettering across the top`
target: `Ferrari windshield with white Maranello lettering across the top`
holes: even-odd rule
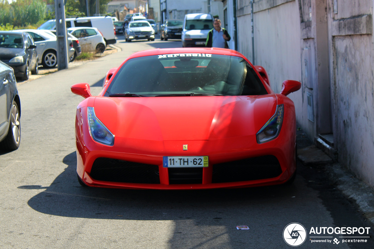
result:
[[[238,56],[205,53],[129,59],[105,96],[264,95],[253,68]]]

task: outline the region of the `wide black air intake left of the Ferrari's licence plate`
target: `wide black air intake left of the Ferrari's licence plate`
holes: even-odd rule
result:
[[[91,177],[98,181],[160,184],[159,166],[99,157]]]

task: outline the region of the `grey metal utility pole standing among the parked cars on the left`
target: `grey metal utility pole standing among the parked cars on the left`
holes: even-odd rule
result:
[[[64,0],[55,0],[55,19],[57,36],[57,70],[62,70],[69,67]]]

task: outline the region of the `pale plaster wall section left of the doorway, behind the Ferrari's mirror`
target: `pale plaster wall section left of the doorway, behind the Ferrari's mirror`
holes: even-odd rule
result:
[[[250,1],[238,1],[236,14],[238,51],[255,65],[266,69],[274,92],[281,91],[284,80],[301,82],[300,12],[297,2],[260,0],[254,3],[254,62]],[[302,117],[301,91],[288,96],[295,102],[297,117]]]

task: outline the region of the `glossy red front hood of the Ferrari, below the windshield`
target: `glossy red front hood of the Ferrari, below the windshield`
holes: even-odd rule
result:
[[[273,116],[276,95],[96,97],[96,117],[115,135],[156,141],[254,135]]]

